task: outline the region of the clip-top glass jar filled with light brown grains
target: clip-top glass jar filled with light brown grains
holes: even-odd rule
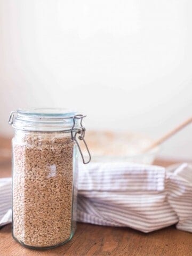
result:
[[[83,117],[66,109],[19,109],[10,115],[15,132],[12,235],[22,245],[46,249],[74,235],[77,148],[84,164],[91,160],[89,153],[85,162],[77,140],[78,134],[85,143]]]

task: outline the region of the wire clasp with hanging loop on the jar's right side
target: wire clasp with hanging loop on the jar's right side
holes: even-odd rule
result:
[[[75,116],[73,117],[73,126],[72,126],[72,128],[71,128],[71,140],[76,142],[77,147],[78,147],[78,149],[79,149],[79,152],[80,152],[80,154],[81,154],[83,163],[84,163],[84,164],[88,164],[88,163],[91,161],[91,154],[90,154],[89,148],[88,148],[88,146],[87,146],[87,143],[86,143],[86,141],[85,141],[85,139],[84,139],[84,137],[85,137],[85,127],[82,125],[82,120],[83,120],[84,117],[85,117],[85,116],[79,115],[79,114],[78,114],[78,115],[75,115]],[[76,120],[76,119],[81,119],[81,122],[80,122],[81,127],[79,127],[78,129],[75,129],[75,120]],[[73,134],[74,131],[75,131],[75,133]],[[79,139],[79,140],[82,140],[82,141],[84,142],[84,145],[85,145],[85,147],[86,147],[86,150],[87,150],[87,152],[88,152],[88,154],[89,154],[89,160],[88,160],[87,162],[85,162],[85,158],[84,158],[84,156],[83,156],[81,147],[80,147],[80,145],[79,145],[79,143],[78,143],[78,141],[77,141],[77,138],[76,138],[77,133],[80,134],[80,135],[78,136],[78,139]]]

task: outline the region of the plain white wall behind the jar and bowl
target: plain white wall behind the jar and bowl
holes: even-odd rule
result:
[[[192,113],[192,1],[0,0],[0,134],[18,107],[156,138]],[[162,155],[192,159],[192,126]]]

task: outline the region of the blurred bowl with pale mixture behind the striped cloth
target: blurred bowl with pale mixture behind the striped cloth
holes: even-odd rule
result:
[[[146,153],[142,151],[153,139],[133,132],[89,131],[85,140],[89,146],[92,162],[133,162],[153,164],[159,151],[155,147]],[[86,154],[85,148],[83,153]]]

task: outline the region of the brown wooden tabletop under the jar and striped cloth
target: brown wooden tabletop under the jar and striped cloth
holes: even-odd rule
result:
[[[10,150],[10,141],[0,139],[0,148]],[[177,162],[177,161],[175,161]],[[171,161],[156,161],[167,166]],[[10,156],[0,157],[0,177],[10,177]],[[77,224],[77,231],[66,245],[46,251],[29,250],[15,242],[11,225],[0,230],[0,256],[192,256],[192,234],[174,226],[143,234],[131,228]]]

